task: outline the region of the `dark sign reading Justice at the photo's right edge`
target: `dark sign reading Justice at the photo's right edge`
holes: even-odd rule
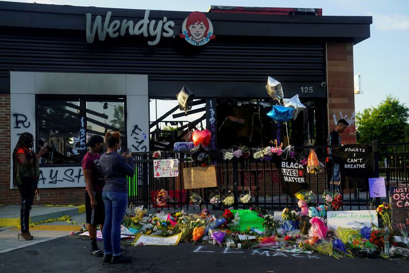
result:
[[[389,202],[393,229],[409,229],[409,187],[390,187]]]

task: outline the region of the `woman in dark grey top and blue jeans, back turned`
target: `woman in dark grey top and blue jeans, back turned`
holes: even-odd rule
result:
[[[102,171],[105,174],[105,186],[102,199],[105,206],[105,222],[102,230],[105,263],[129,263],[131,257],[121,255],[121,223],[128,204],[127,176],[133,176],[135,163],[131,155],[121,151],[119,132],[106,133],[105,142],[108,148],[100,158]]]

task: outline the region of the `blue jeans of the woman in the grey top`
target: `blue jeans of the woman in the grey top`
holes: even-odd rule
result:
[[[105,206],[105,222],[102,230],[104,255],[121,255],[121,223],[128,204],[128,195],[111,191],[102,191]]]

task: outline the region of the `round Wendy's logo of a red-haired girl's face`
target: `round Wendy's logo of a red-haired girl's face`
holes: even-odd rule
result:
[[[194,46],[203,46],[216,36],[213,34],[213,25],[205,13],[194,11],[182,23],[180,37]]]

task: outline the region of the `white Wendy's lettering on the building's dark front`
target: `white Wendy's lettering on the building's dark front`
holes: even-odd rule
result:
[[[86,40],[88,43],[93,43],[95,35],[98,32],[98,38],[100,41],[105,40],[106,34],[111,38],[116,38],[119,35],[125,36],[128,34],[141,35],[144,37],[153,37],[153,40],[148,41],[149,46],[155,46],[161,40],[161,37],[173,37],[173,27],[175,22],[168,20],[167,17],[158,20],[149,20],[149,10],[145,11],[145,17],[139,22],[134,22],[132,20],[124,19],[122,22],[120,20],[113,20],[110,22],[112,12],[108,11],[105,16],[104,23],[102,24],[102,17],[98,15],[95,17],[94,24],[92,24],[92,14],[87,13],[86,16]],[[213,29],[213,28],[212,28]]]

